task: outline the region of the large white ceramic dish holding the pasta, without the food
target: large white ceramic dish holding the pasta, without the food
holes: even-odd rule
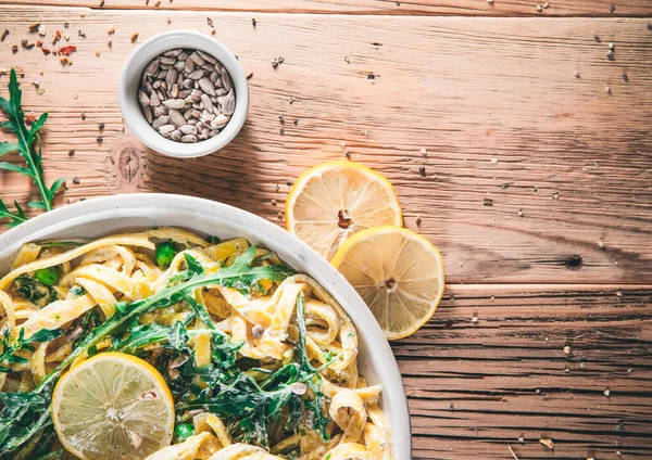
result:
[[[246,237],[276,252],[294,269],[326,288],[349,312],[360,334],[360,373],[383,385],[383,408],[391,426],[397,460],[412,458],[408,400],[389,344],[371,311],[347,280],[324,258],[276,225],[225,204],[167,194],[93,199],[42,214],[0,235],[0,274],[23,243],[52,239],[97,239],[156,226],[175,226],[220,238]]]

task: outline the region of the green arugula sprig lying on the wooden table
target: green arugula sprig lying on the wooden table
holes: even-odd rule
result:
[[[9,79],[9,100],[0,98],[0,110],[7,114],[9,120],[2,122],[0,126],[15,133],[17,142],[0,144],[0,156],[9,152],[18,152],[27,164],[27,167],[25,168],[11,163],[0,162],[0,169],[8,169],[30,177],[38,188],[41,201],[30,202],[28,206],[51,210],[54,194],[59,191],[65,179],[57,179],[52,186],[49,187],[46,184],[41,166],[42,153],[40,149],[39,131],[48,119],[48,114],[41,114],[38,119],[32,124],[30,128],[27,129],[27,126],[25,125],[25,113],[21,107],[23,91],[21,90],[16,72],[12,68]],[[39,144],[38,153],[35,152],[35,143]],[[7,208],[7,206],[2,204],[0,210],[3,210],[4,208]],[[22,213],[18,207],[16,208],[18,209],[17,216],[24,218],[24,213]],[[7,215],[2,215],[2,217],[11,218],[11,226],[16,225],[15,217]]]

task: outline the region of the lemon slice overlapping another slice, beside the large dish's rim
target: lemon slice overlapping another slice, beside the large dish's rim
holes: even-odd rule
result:
[[[389,340],[416,332],[443,295],[441,254],[411,230],[378,227],[356,233],[333,265],[355,288]]]

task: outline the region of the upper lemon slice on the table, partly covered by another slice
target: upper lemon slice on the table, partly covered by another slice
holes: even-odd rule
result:
[[[286,203],[286,229],[327,259],[359,231],[401,223],[401,206],[391,183],[353,162],[309,169]]]

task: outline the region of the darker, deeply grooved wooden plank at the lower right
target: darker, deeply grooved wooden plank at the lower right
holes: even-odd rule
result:
[[[652,286],[449,288],[392,345],[414,457],[650,458],[651,301]]]

